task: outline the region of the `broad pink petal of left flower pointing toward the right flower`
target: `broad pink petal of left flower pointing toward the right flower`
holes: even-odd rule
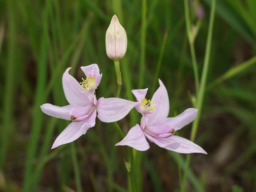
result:
[[[122,98],[101,97],[97,103],[98,119],[105,123],[119,121],[137,104],[138,102],[132,102]]]

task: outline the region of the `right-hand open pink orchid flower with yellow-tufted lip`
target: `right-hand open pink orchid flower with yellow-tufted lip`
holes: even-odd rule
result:
[[[192,141],[174,135],[176,130],[191,123],[197,109],[189,108],[176,117],[167,117],[169,114],[169,98],[167,90],[161,80],[160,87],[155,92],[152,100],[145,98],[148,89],[132,90],[139,104],[135,106],[142,114],[140,125],[132,127],[126,137],[117,145],[128,145],[138,151],[149,149],[146,137],[161,148],[178,153],[203,153],[207,154],[200,146]]]

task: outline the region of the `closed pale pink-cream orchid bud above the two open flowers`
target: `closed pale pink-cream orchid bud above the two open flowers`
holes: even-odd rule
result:
[[[106,32],[106,52],[107,56],[118,61],[126,54],[127,35],[118,18],[114,15]]]

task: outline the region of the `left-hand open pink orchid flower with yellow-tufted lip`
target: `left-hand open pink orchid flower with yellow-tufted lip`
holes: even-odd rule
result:
[[[64,94],[69,105],[63,107],[49,103],[41,105],[41,110],[45,114],[72,121],[56,138],[52,149],[76,140],[89,128],[94,127],[96,112],[100,121],[116,122],[124,118],[138,104],[121,98],[101,97],[97,100],[95,90],[102,77],[97,64],[81,67],[87,77],[82,78],[81,83],[68,73],[70,68],[66,69],[62,78]]]

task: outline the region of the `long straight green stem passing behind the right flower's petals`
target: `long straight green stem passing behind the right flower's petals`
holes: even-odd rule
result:
[[[202,103],[203,103],[203,98],[204,98],[204,93],[205,93],[205,86],[206,86],[206,79],[207,79],[207,73],[208,73],[208,68],[209,68],[209,59],[210,59],[210,51],[211,51],[211,44],[212,44],[212,32],[213,32],[213,24],[214,24],[215,5],[216,5],[216,0],[212,0],[210,24],[209,24],[209,30],[208,30],[208,35],[207,35],[203,72],[202,72],[201,83],[200,83],[197,100],[196,100],[196,107],[198,109],[198,113],[197,113],[197,117],[193,121],[193,125],[192,125],[192,133],[191,133],[192,141],[194,141],[194,139],[195,139],[195,134],[196,134],[199,120],[200,120]],[[186,178],[187,178],[187,172],[189,169],[190,158],[191,158],[191,155],[189,154],[187,156],[187,160],[186,160],[186,167],[184,170],[184,177],[183,177],[183,184],[181,186],[181,192],[184,192],[184,190],[185,190],[185,183],[186,183]]]

